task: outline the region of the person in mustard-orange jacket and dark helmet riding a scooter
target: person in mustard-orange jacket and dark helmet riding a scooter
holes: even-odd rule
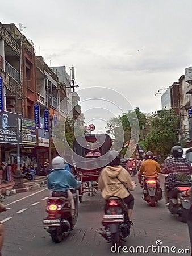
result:
[[[155,177],[157,179],[157,188],[160,188],[160,183],[158,181],[158,172],[161,172],[160,165],[153,160],[153,153],[148,151],[145,154],[145,162],[141,164],[140,171],[138,174],[139,183],[141,183],[141,176],[144,174],[144,180],[148,177]],[[146,189],[146,183],[143,183],[144,189]]]

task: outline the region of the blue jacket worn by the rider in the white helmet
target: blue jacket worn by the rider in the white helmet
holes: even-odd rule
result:
[[[73,174],[64,169],[57,169],[48,176],[48,189],[53,191],[68,191],[70,187],[78,188],[81,182],[77,181]]]

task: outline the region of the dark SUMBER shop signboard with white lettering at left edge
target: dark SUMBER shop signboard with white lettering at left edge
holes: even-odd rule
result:
[[[19,121],[22,115],[18,115]],[[20,123],[20,122],[19,122]],[[19,127],[20,129],[21,127]],[[21,143],[21,137],[19,137]],[[16,114],[4,111],[0,114],[0,143],[17,144],[18,142],[18,123]]]

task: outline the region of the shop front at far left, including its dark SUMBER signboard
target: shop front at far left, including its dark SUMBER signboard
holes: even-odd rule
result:
[[[19,123],[19,127],[18,127]],[[16,171],[17,144],[21,146],[21,137],[18,128],[21,129],[22,116],[6,112],[0,114],[0,180],[1,182],[13,181],[12,174]]]

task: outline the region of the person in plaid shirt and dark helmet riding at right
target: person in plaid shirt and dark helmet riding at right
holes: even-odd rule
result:
[[[168,203],[169,191],[174,188],[178,181],[190,182],[192,174],[192,167],[189,160],[182,158],[183,149],[181,146],[174,146],[171,149],[170,154],[172,159],[166,159],[162,174],[168,174],[165,180],[165,195]]]

